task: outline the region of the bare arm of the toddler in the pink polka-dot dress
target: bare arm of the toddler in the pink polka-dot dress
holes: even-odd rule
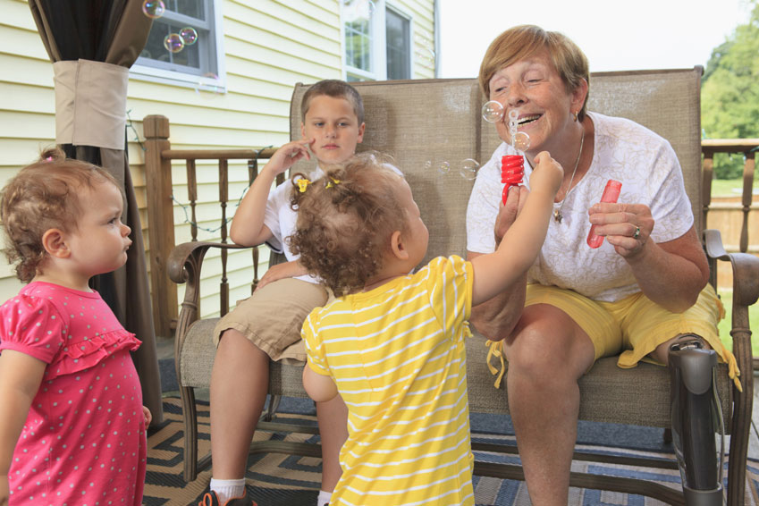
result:
[[[0,355],[0,506],[8,503],[8,471],[46,363],[16,350]]]

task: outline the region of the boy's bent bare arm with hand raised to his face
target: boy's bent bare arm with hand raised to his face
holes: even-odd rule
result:
[[[289,169],[300,158],[311,158],[308,144],[314,139],[300,139],[288,142],[274,152],[269,162],[264,165],[250,185],[248,193],[242,198],[240,207],[234,213],[229,229],[230,239],[241,246],[257,246],[272,237],[272,231],[264,224],[266,199],[272,188],[274,178]]]

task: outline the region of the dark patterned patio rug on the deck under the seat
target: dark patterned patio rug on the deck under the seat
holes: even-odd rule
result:
[[[198,453],[205,455],[210,449],[207,403],[198,402]],[[295,422],[316,424],[316,417],[287,414],[278,415]],[[207,490],[211,479],[210,469],[198,474],[198,479],[185,483],[182,479],[182,437],[181,404],[177,398],[164,399],[164,423],[153,427],[148,437],[148,476],[146,476],[146,506],[196,506]],[[309,434],[271,434],[257,432],[256,439],[286,437],[290,441],[311,441],[317,436]],[[513,435],[473,434],[476,441],[498,441],[514,443]],[[584,451],[613,452],[627,455],[661,457],[673,459],[671,453],[636,451],[582,445]],[[519,462],[519,458],[509,455],[481,454],[476,452],[476,460],[496,460]],[[590,471],[597,474],[617,476],[654,477],[656,481],[679,489],[680,478],[676,470],[650,468],[630,468],[611,464],[574,462],[573,471]],[[259,506],[310,506],[316,505],[319,490],[321,460],[282,454],[253,454],[248,460],[247,485],[249,493]],[[748,461],[746,477],[746,505],[759,505],[759,462]],[[474,477],[475,501],[477,505],[517,506],[530,504],[524,482],[491,477]],[[629,505],[651,506],[663,502],[627,493],[612,493],[590,489],[571,488],[569,505]]]

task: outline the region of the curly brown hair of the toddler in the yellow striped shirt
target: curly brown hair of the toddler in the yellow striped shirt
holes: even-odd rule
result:
[[[375,153],[361,153],[299,191],[294,174],[291,204],[298,211],[288,239],[308,272],[336,296],[362,289],[383,266],[392,232],[405,230],[407,217],[396,189],[401,176]]]

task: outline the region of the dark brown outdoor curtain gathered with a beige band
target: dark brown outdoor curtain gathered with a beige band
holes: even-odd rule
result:
[[[127,263],[93,279],[124,328],[142,346],[132,353],[143,403],[163,420],[156,332],[139,209],[126,151],[129,68],[148,40],[152,20],[142,0],[30,0],[55,72],[55,142],[67,156],[104,167],[122,183],[122,222],[131,227]]]

